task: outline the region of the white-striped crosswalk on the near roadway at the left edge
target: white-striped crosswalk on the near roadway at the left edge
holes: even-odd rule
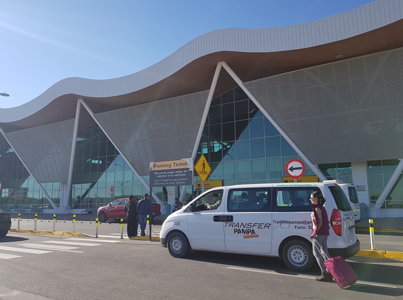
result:
[[[70,238],[63,240],[49,240],[40,243],[22,243],[11,246],[0,246],[0,259],[12,259],[23,257],[24,253],[28,254],[46,254],[53,251],[64,251],[73,253],[83,253],[82,248],[101,246],[103,243],[118,243],[119,241],[109,240],[91,240]],[[80,249],[80,250],[77,250]],[[10,253],[17,253],[10,254]]]

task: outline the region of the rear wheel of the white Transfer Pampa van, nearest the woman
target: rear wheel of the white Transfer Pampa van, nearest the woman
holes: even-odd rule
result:
[[[315,260],[312,246],[299,240],[290,241],[284,245],[282,258],[287,267],[294,271],[309,270]]]

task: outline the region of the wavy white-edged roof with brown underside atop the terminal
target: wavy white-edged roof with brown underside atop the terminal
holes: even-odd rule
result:
[[[127,76],[66,78],[32,101],[0,109],[6,131],[75,117],[78,98],[95,113],[210,88],[218,62],[243,81],[403,47],[403,2],[378,0],[352,11],[297,25],[216,30],[188,42],[160,62]],[[216,94],[234,86],[220,75]]]

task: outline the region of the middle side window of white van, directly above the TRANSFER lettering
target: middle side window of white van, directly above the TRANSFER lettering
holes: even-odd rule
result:
[[[271,212],[269,188],[240,188],[228,192],[228,212]]]

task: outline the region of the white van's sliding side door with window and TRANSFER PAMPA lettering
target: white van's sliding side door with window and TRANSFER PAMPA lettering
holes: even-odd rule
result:
[[[228,190],[224,223],[228,252],[270,254],[272,249],[272,202],[270,187]]]

